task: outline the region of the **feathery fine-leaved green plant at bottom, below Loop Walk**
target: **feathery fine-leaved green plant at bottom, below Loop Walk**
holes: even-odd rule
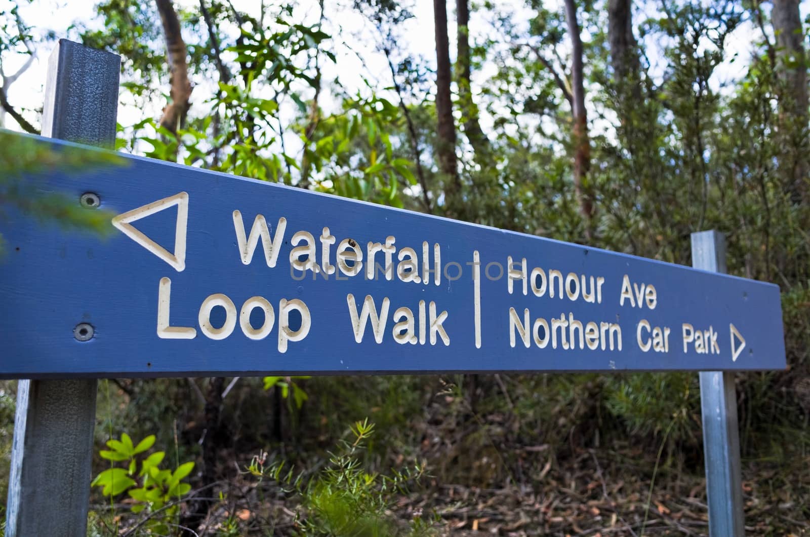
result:
[[[330,453],[328,464],[316,475],[285,470],[283,462],[265,466],[263,452],[250,462],[248,472],[259,479],[275,480],[300,501],[296,514],[302,535],[433,535],[433,523],[421,515],[407,527],[391,515],[395,496],[407,493],[407,485],[424,475],[422,466],[391,470],[391,475],[364,469],[360,452],[373,430],[368,419],[354,423],[353,440],[340,440],[339,449]]]

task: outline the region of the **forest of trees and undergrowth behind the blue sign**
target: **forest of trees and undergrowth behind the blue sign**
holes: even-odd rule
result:
[[[804,6],[417,7],[0,2],[0,126],[38,131],[26,73],[70,37],[122,55],[125,152],[671,263],[723,231],[786,331],[786,372],[736,377],[746,526],[805,535]],[[0,183],[40,158],[8,140]],[[93,535],[706,533],[694,373],[109,380],[97,408]]]

